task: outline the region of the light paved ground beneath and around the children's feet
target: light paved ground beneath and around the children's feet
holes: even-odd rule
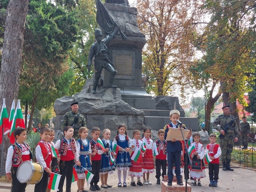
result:
[[[218,187],[209,187],[209,177],[208,169],[205,170],[206,178],[201,180],[202,186],[193,186],[191,183],[189,185],[192,186],[192,192],[253,192],[255,191],[255,183],[256,183],[256,170],[250,169],[243,169],[243,168],[235,168],[234,171],[222,171],[220,168],[219,173],[219,183]],[[113,185],[112,188],[109,189],[102,189],[103,192],[122,192],[125,191],[133,191],[133,192],[160,192],[161,185],[156,185],[155,174],[152,173],[149,176],[149,179],[152,181],[152,185],[144,185],[144,186],[131,186],[130,181],[131,179],[127,177],[126,183],[127,187],[119,188],[117,187],[118,179],[117,179],[117,172],[115,174],[109,176],[109,185]],[[100,183],[99,183],[100,184]],[[185,185],[185,183],[184,183]],[[9,192],[10,189],[3,189],[3,187],[9,188],[9,183],[0,183],[0,192]],[[89,191],[87,186],[85,189]],[[53,191],[53,190],[52,190]],[[64,187],[65,191],[65,187]],[[72,184],[72,192],[77,191],[76,182]],[[26,192],[34,192],[34,185],[28,185],[26,188]]]

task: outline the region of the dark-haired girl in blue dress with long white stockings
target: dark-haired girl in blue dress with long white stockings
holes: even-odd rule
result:
[[[116,154],[115,166],[117,169],[118,176],[118,187],[122,187],[121,183],[121,172],[123,171],[124,183],[123,186],[127,187],[126,176],[127,170],[131,167],[131,157],[129,150],[132,148],[132,140],[129,138],[126,132],[126,127],[124,124],[121,124],[117,128],[117,135],[114,139],[114,143],[120,146],[118,153]],[[134,147],[134,146],[133,146]]]

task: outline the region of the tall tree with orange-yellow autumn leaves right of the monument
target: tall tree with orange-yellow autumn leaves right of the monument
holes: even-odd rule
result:
[[[190,0],[137,0],[138,25],[147,40],[142,70],[148,92],[172,95],[177,88],[184,93],[190,86],[188,68],[195,51],[191,42],[196,35],[192,23],[197,7]]]

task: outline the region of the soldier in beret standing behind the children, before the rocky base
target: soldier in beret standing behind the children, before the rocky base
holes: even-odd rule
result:
[[[78,130],[80,127],[86,127],[86,120],[85,117],[78,112],[78,102],[71,103],[70,106],[72,111],[65,113],[61,119],[61,129],[63,130],[65,126],[72,126],[74,128],[74,138],[77,140],[79,139]],[[78,119],[75,123],[74,120],[76,116],[78,116]]]

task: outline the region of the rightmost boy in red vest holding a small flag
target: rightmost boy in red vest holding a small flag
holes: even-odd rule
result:
[[[215,143],[217,140],[215,134],[210,134],[209,140],[210,144],[208,144],[205,149],[205,154],[209,152],[210,159],[212,160],[209,163],[209,187],[217,187],[219,179],[219,156],[221,155],[221,149],[220,146],[217,143]]]

